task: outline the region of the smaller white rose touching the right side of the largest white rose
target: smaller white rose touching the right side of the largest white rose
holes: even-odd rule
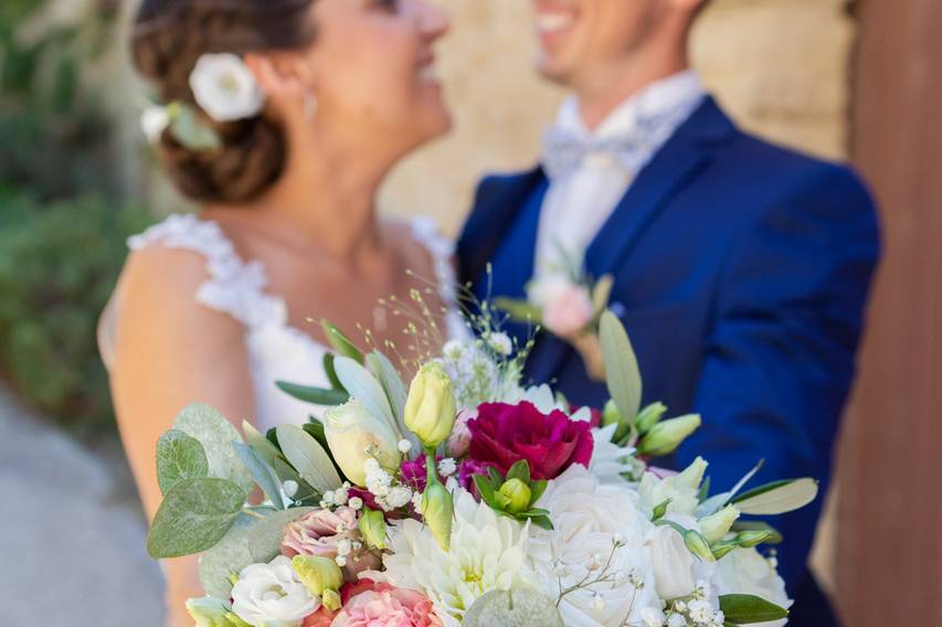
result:
[[[666,518],[684,529],[700,531],[697,521],[690,517]],[[665,601],[688,596],[694,593],[697,582],[709,582],[715,576],[716,565],[694,555],[684,543],[684,536],[670,525],[655,528],[648,535],[647,545],[654,563],[657,596]]]

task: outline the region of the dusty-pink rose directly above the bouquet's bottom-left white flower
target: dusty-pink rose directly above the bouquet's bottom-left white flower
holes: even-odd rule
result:
[[[341,543],[349,543],[350,549],[346,555],[347,565],[343,566],[347,581],[357,581],[361,572],[380,567],[380,559],[362,544],[356,510],[347,507],[337,508],[336,511],[318,509],[288,524],[282,540],[282,554],[288,557],[317,555],[334,560],[340,553]]]

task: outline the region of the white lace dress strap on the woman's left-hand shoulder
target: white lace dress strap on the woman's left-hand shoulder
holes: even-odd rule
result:
[[[192,214],[171,215],[128,240],[133,251],[165,246],[192,251],[205,257],[209,278],[199,287],[197,301],[227,314],[248,330],[287,321],[284,299],[266,294],[268,276],[261,262],[243,262],[220,225]]]

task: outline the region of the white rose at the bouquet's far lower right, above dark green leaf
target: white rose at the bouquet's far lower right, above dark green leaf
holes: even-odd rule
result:
[[[772,564],[755,549],[733,549],[717,562],[720,594],[751,594],[784,608],[792,606],[785,592],[785,582]],[[786,618],[756,623],[758,627],[782,627]]]

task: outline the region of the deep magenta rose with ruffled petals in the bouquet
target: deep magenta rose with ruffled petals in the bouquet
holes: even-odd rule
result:
[[[573,464],[589,467],[592,459],[592,425],[560,411],[542,414],[532,403],[484,404],[468,429],[468,457],[504,474],[526,459],[533,479],[554,479]]]

